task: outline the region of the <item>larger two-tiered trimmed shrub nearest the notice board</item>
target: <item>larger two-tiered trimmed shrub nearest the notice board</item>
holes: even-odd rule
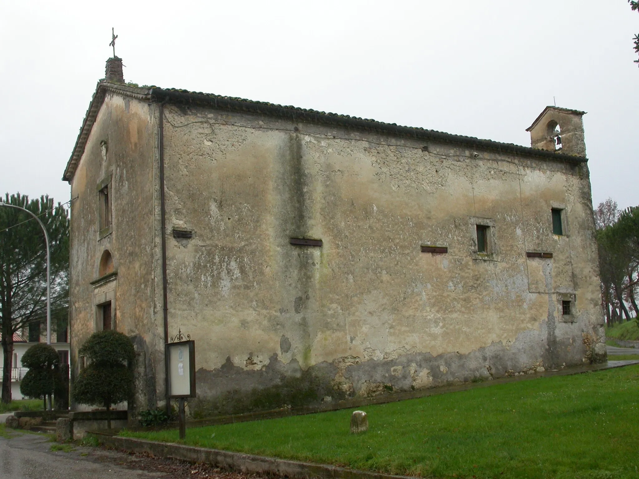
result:
[[[107,427],[111,429],[111,406],[129,399],[135,358],[131,340],[118,331],[93,333],[79,351],[88,366],[73,383],[73,399],[81,404],[104,406]]]

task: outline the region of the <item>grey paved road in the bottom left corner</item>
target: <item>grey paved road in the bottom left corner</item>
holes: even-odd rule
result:
[[[168,479],[164,473],[120,466],[118,452],[75,447],[72,452],[50,450],[49,437],[9,432],[0,437],[0,479]]]

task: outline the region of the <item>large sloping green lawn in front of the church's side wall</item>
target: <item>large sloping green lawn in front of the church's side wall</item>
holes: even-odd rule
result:
[[[639,478],[639,365],[361,409],[360,435],[344,409],[188,429],[185,443],[437,478]]]

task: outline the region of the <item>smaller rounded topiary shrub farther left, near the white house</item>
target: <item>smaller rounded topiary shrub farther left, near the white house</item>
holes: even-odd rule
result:
[[[22,356],[22,365],[29,368],[20,383],[20,393],[32,399],[43,399],[47,409],[47,396],[54,393],[59,383],[58,352],[48,344],[35,344]]]

